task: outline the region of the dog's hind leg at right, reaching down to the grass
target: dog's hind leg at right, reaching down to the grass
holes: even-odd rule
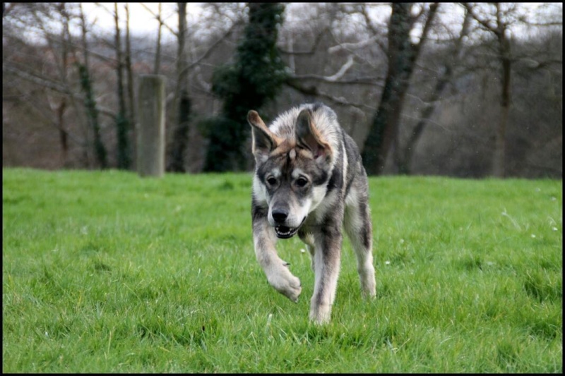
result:
[[[359,280],[361,281],[361,291],[363,296],[371,298],[376,295],[376,287],[371,214],[367,189],[352,189],[345,202],[345,218],[343,221],[345,233],[349,236],[355,255],[357,255],[357,272],[359,272]]]

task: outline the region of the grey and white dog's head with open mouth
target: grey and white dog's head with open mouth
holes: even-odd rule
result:
[[[256,111],[249,111],[256,162],[254,195],[268,202],[268,222],[279,238],[291,238],[326,195],[333,151],[303,109],[276,135]]]

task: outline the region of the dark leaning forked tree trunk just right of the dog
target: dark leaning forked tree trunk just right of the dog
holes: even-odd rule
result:
[[[393,3],[388,28],[388,72],[381,102],[377,109],[369,135],[363,147],[362,158],[367,174],[379,175],[383,171],[388,151],[396,139],[403,100],[420,47],[426,40],[438,4],[429,7],[420,42],[410,41],[410,32],[415,25],[410,11],[412,3]],[[423,13],[420,13],[422,16]]]

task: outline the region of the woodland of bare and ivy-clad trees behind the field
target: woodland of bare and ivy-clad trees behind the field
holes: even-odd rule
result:
[[[249,171],[242,114],[321,101],[371,175],[562,178],[561,3],[99,6],[113,30],[81,3],[3,3],[4,167],[135,169],[157,73],[170,172]],[[131,32],[133,6],[159,26]]]

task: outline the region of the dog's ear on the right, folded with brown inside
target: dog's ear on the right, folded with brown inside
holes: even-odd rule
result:
[[[312,121],[312,113],[309,109],[303,109],[298,114],[296,121],[296,142],[300,147],[304,147],[312,152],[316,162],[331,161],[331,147],[316,129]]]

